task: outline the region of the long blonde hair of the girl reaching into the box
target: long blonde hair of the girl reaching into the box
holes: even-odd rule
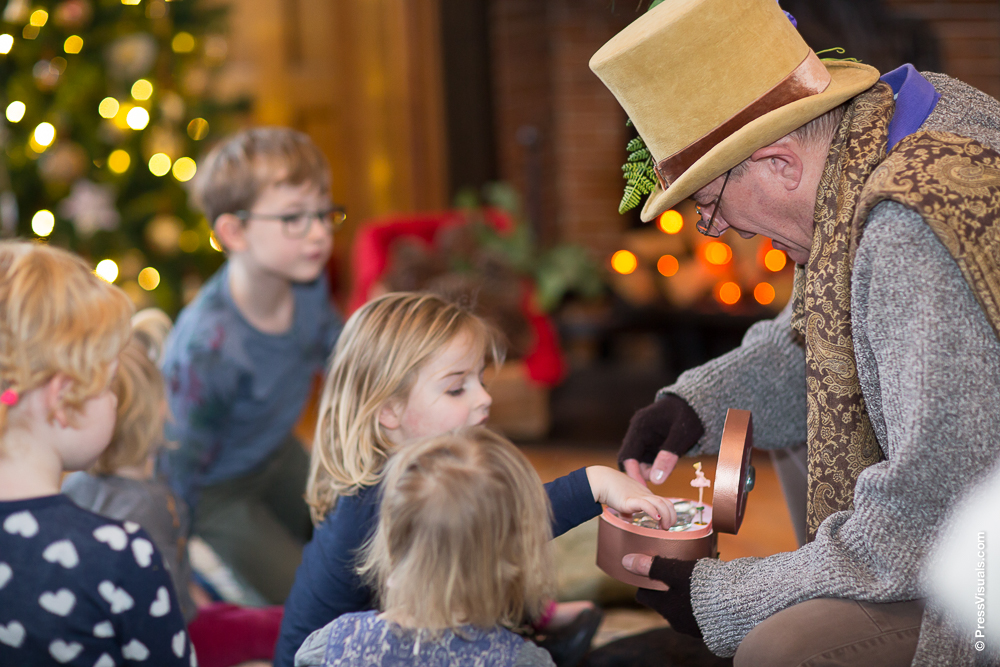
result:
[[[386,294],[351,316],[319,405],[306,485],[313,521],[322,521],[339,496],[378,483],[392,449],[379,423],[380,409],[390,399],[406,400],[424,364],[463,334],[484,358],[503,362],[492,327],[434,294]]]

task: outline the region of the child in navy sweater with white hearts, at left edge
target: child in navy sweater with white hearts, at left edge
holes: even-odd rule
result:
[[[80,258],[0,243],[0,664],[193,662],[149,536],[59,494],[111,438],[131,312]]]

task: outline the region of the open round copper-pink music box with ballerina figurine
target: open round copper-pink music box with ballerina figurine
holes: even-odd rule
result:
[[[704,503],[701,521],[697,500],[668,498],[677,509],[673,530],[646,528],[621,518],[604,508],[597,529],[597,566],[611,577],[639,588],[667,590],[665,584],[632,574],[622,566],[626,554],[647,554],[681,560],[716,558],[718,532],[739,532],[746,511],[747,493],[753,490],[754,469],[750,465],[753,448],[753,420],[747,410],[730,409],[722,429],[719,463],[715,472],[714,504]],[[676,474],[676,472],[674,473]]]

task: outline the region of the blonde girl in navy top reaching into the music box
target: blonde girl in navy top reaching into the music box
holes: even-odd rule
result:
[[[303,551],[275,652],[291,667],[307,635],[338,616],[371,609],[375,590],[356,570],[378,522],[385,462],[397,449],[480,425],[492,399],[487,364],[502,361],[492,329],[466,308],[432,294],[386,294],[348,320],[320,401],[306,501],[317,522]],[[675,520],[672,505],[603,466],[545,485],[552,533],[597,516],[601,503]]]

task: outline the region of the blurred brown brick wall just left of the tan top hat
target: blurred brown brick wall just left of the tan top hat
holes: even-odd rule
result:
[[[630,9],[632,6],[630,5]],[[501,178],[545,241],[616,249],[625,115],[587,67],[635,14],[606,0],[495,0],[490,40]]]

